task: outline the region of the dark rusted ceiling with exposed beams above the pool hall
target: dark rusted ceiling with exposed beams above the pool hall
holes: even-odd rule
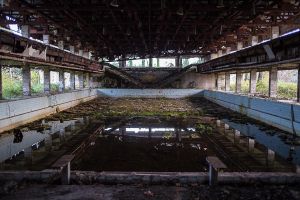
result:
[[[114,60],[235,49],[270,37],[272,26],[300,27],[299,13],[297,0],[6,0],[0,24]]]

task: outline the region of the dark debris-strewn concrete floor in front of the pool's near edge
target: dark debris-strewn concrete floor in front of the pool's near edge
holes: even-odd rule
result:
[[[300,199],[294,186],[166,186],[166,185],[25,185],[0,199],[12,200],[116,200],[116,199]]]

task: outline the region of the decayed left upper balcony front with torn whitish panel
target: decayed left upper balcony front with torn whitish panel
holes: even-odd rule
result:
[[[29,39],[14,34],[5,29],[0,29],[0,55],[2,59],[16,60],[28,63],[45,65],[61,65],[69,68],[100,72],[102,65],[67,50],[58,49],[53,45],[47,45],[40,41]]]

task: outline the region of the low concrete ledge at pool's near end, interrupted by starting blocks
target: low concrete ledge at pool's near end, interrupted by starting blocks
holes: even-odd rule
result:
[[[55,175],[55,170],[9,171],[0,172],[3,181],[37,181],[47,182]],[[73,171],[71,182],[77,184],[191,184],[208,183],[207,172],[92,172]],[[252,184],[260,182],[265,184],[296,184],[300,183],[300,174],[272,173],[272,172],[225,172],[219,174],[219,184]]]

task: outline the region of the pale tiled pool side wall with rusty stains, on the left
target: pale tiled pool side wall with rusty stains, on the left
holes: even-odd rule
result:
[[[97,97],[96,89],[86,89],[43,97],[0,103],[0,132],[41,119]]]

